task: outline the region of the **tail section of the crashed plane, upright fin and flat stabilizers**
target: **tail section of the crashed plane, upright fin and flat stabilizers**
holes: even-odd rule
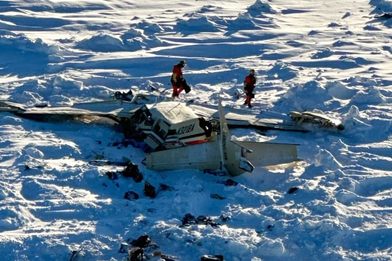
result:
[[[188,107],[179,108],[178,113],[188,111],[186,108]],[[218,114],[218,132],[213,127],[216,122],[208,122],[204,118],[197,118],[199,120],[198,127],[197,122],[193,120],[190,125],[183,125],[178,129],[178,139],[180,139],[183,132],[192,133],[187,135],[188,137],[199,137],[193,141],[196,141],[196,145],[147,153],[146,166],[155,170],[215,170],[224,167],[230,175],[238,176],[246,171],[252,172],[255,166],[262,167],[298,160],[296,144],[231,141],[228,122],[221,101],[219,101]],[[187,117],[189,116],[187,115]],[[195,115],[195,117],[197,116]],[[203,131],[194,132],[199,127]]]

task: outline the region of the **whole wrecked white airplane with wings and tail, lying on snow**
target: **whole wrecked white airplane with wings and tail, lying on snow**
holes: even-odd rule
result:
[[[146,167],[157,171],[224,168],[230,175],[238,176],[252,172],[254,167],[298,160],[297,144],[231,141],[229,132],[229,127],[304,132],[297,122],[246,116],[241,110],[226,109],[228,112],[221,101],[216,108],[179,101],[157,102],[157,97],[151,102],[144,95],[135,95],[130,101],[114,99],[58,107],[24,108],[0,101],[0,111],[36,120],[109,118],[123,127],[126,137],[144,140],[150,148]]]

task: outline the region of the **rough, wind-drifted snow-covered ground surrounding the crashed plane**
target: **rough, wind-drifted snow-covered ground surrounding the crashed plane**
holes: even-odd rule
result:
[[[298,143],[302,159],[233,178],[148,170],[144,150],[109,125],[1,113],[1,260],[127,260],[121,245],[143,235],[151,260],[154,251],[392,260],[392,18],[381,12],[391,9],[386,0],[0,1],[0,99],[61,106],[150,85],[170,96],[172,66],[186,59],[193,90],[181,101],[218,104],[221,93],[224,106],[244,108],[233,93],[255,69],[252,111],[317,111],[345,126],[232,129],[232,139]],[[101,158],[132,161],[144,181],[89,164]],[[147,197],[145,181],[166,190]],[[187,214],[205,220],[183,226]]]

